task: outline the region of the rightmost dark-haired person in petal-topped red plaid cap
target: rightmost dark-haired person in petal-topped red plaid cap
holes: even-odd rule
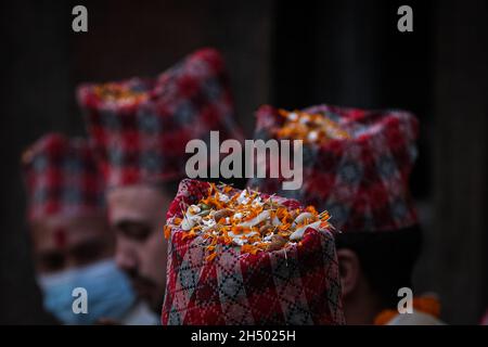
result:
[[[432,301],[425,299],[414,300],[413,313],[393,320],[402,298],[398,291],[412,287],[421,249],[408,187],[418,127],[412,114],[395,110],[319,105],[294,112],[261,106],[257,112],[256,138],[304,141],[304,184],[283,191],[279,178],[252,179],[248,185],[329,210],[339,231],[335,242],[348,324],[438,322],[433,317],[438,309],[425,309],[438,303],[415,307]],[[388,309],[396,314],[386,314]]]

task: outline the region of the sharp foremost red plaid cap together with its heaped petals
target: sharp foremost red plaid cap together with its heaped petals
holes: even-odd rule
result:
[[[343,323],[329,218],[294,200],[183,180],[165,227],[163,323]]]

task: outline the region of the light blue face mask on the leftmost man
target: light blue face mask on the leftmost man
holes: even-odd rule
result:
[[[113,260],[42,274],[38,282],[43,292],[46,309],[65,324],[92,324],[101,318],[118,321],[136,303],[128,278]],[[74,301],[82,296],[76,291],[73,296],[76,287],[86,290],[88,313],[74,312]],[[78,305],[75,304],[75,308]]]

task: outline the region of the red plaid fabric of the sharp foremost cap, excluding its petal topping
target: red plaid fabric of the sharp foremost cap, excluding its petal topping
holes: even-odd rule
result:
[[[196,180],[181,181],[168,222],[182,217],[182,205],[205,197],[209,187]],[[273,200],[290,209],[303,208],[293,200]],[[180,228],[171,230],[164,325],[344,324],[330,231],[309,228],[299,244],[255,255],[222,245],[211,261],[205,259],[205,239],[185,239],[184,234]]]

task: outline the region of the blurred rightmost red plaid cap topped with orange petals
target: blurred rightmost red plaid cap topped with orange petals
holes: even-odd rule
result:
[[[283,127],[301,117],[322,118],[321,141],[317,132],[300,137],[296,129]],[[418,128],[416,118],[404,111],[319,105],[288,113],[261,106],[255,138],[304,140],[304,184],[295,191],[281,190],[280,178],[251,179],[248,185],[326,209],[341,231],[413,227],[418,217],[408,180],[416,158]]]

